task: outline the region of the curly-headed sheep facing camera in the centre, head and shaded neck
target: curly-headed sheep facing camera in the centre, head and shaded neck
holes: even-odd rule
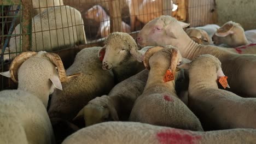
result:
[[[137,44],[131,35],[114,32],[108,35],[104,44],[102,49],[98,51],[98,57],[102,57],[102,53],[104,53],[102,69],[113,70],[117,82],[145,69],[141,63],[142,55],[150,47],[138,51]]]

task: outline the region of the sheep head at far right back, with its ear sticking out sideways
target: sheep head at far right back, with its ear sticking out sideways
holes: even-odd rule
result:
[[[227,44],[231,47],[246,45],[245,31],[239,23],[226,22],[212,37],[214,44]]]

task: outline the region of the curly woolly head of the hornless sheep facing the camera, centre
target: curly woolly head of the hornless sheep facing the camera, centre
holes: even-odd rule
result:
[[[111,33],[104,43],[104,47],[98,51],[98,57],[102,57],[102,53],[104,53],[102,61],[102,69],[104,70],[118,67],[119,65],[130,61],[129,59],[131,58],[135,59],[135,61],[136,59],[142,61],[141,53],[138,52],[135,40],[127,33]]]

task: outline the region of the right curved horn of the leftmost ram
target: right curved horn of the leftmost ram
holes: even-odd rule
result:
[[[66,76],[66,71],[60,56],[56,53],[45,53],[45,56],[48,57],[50,61],[57,67],[60,81],[66,82],[68,80],[68,77]]]

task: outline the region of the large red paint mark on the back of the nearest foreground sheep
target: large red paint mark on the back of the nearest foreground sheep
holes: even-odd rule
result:
[[[193,135],[190,131],[181,129],[166,129],[156,134],[161,144],[195,144],[201,139],[200,135]]]

